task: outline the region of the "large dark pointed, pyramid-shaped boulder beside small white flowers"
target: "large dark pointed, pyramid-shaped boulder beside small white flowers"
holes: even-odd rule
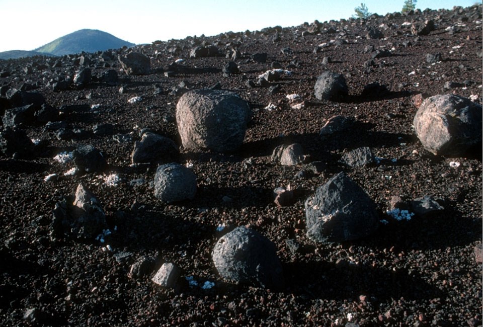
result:
[[[344,173],[317,188],[305,201],[307,236],[316,242],[366,237],[378,224],[374,202]]]

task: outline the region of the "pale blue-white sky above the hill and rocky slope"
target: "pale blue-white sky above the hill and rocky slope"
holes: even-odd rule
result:
[[[481,1],[481,0],[479,0]],[[404,0],[362,1],[369,12],[400,11]],[[476,0],[419,0],[416,8],[468,7]],[[0,0],[0,52],[32,50],[88,28],[140,44],[349,18],[357,1],[330,0]]]

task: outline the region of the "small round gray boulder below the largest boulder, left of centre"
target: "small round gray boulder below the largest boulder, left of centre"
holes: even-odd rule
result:
[[[154,175],[154,196],[164,203],[192,200],[196,194],[196,175],[179,163],[161,165]]]

